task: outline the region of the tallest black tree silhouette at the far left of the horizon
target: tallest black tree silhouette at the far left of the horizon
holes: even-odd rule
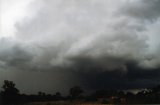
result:
[[[19,90],[15,87],[13,81],[4,80],[4,85],[2,86],[2,101],[3,103],[17,103],[19,99]]]

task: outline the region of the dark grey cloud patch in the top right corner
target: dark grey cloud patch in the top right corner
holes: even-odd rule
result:
[[[133,0],[124,4],[122,9],[130,17],[153,21],[160,16],[160,0]]]

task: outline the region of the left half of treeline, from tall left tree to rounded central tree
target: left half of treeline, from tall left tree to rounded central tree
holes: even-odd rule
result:
[[[0,91],[0,105],[1,104],[23,104],[30,102],[45,102],[45,101],[60,101],[60,100],[75,100],[82,98],[83,90],[75,86],[69,90],[68,96],[62,96],[60,92],[55,94],[46,94],[44,92],[38,92],[37,94],[22,94],[13,81],[4,80],[4,84]]]

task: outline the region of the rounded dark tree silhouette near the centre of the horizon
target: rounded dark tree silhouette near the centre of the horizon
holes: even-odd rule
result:
[[[83,92],[84,91],[81,89],[81,87],[75,86],[70,89],[70,96],[72,99],[79,98]]]

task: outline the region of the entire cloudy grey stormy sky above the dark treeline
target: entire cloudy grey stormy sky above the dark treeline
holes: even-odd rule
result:
[[[160,0],[1,0],[0,84],[22,92],[160,83]]]

